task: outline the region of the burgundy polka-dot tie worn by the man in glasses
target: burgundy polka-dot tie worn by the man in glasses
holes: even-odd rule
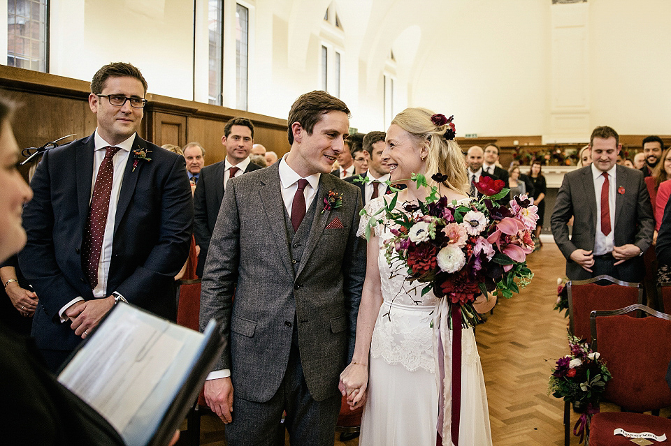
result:
[[[112,157],[120,150],[120,147],[108,146],[105,158],[100,163],[96,184],[93,188],[93,198],[89,216],[84,227],[84,243],[82,244],[82,258],[86,276],[91,283],[91,288],[98,285],[98,264],[103,248],[103,237],[105,237],[105,226],[107,225],[107,214],[110,209],[110,195],[112,193],[112,179],[114,178],[114,162]]]

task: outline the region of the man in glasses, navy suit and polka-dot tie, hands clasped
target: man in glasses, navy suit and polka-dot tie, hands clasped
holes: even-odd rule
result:
[[[182,156],[137,135],[147,91],[130,64],[91,82],[93,135],[45,152],[24,209],[24,276],[40,299],[32,336],[52,370],[118,302],[175,320],[173,277],[192,233]]]

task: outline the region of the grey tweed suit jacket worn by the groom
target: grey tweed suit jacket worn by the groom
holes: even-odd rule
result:
[[[323,401],[338,394],[354,350],[366,269],[366,244],[356,237],[361,193],[321,175],[294,274],[280,187],[279,163],[229,180],[205,260],[201,329],[210,318],[222,320],[228,343],[215,370],[231,369],[236,396],[265,402],[287,369],[295,320],[308,390]],[[322,213],[329,191],[342,193],[342,206]],[[331,227],[340,226],[335,218],[342,228]]]

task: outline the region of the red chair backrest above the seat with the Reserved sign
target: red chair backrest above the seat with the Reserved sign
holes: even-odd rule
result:
[[[633,318],[643,311],[650,316]],[[641,304],[615,311],[593,311],[594,342],[612,375],[603,399],[633,412],[671,406],[671,389],[665,380],[671,361],[671,315]]]

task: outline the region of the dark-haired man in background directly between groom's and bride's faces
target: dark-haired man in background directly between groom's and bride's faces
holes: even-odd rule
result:
[[[387,137],[387,133],[384,132],[375,131],[366,133],[366,136],[363,137],[363,149],[370,156],[368,172],[345,179],[348,183],[359,186],[361,196],[363,197],[363,205],[366,205],[373,198],[389,192],[389,186],[385,184],[385,181],[389,181],[389,166],[387,165],[387,161],[382,160],[382,151],[384,151],[386,144],[384,142],[385,137]],[[366,183],[354,181],[366,177],[369,178]]]

